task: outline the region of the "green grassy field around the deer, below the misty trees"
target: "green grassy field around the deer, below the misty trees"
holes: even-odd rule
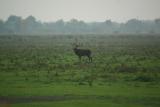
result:
[[[159,107],[159,70],[159,35],[1,35],[0,106]]]

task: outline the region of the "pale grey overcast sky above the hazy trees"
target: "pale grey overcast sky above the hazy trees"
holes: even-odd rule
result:
[[[33,15],[41,21],[151,20],[160,18],[160,0],[0,0],[0,19],[10,15]]]

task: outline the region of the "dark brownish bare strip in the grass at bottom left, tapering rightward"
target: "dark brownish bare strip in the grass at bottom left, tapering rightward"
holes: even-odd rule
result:
[[[61,96],[0,96],[0,104],[64,101],[76,99],[110,99],[109,96],[61,95]]]

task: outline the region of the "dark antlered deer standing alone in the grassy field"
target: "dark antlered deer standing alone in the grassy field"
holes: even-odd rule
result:
[[[89,49],[79,49],[78,45],[75,45],[73,51],[79,57],[80,61],[82,56],[86,56],[92,62],[91,51]]]

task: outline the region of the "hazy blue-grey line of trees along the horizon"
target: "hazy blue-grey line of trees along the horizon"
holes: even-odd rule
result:
[[[77,19],[41,22],[33,16],[22,19],[11,15],[0,20],[0,34],[160,34],[160,19],[130,19],[125,23],[106,20],[84,22]]]

